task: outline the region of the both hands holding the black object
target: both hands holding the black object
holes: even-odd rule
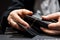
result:
[[[24,25],[26,28],[29,28],[30,25],[27,22],[25,22],[22,18],[24,18],[26,15],[32,15],[32,14],[33,14],[32,11],[29,11],[29,10],[26,10],[26,9],[13,10],[12,12],[10,12],[7,20],[8,20],[8,23],[13,28],[16,28],[16,29],[19,29],[19,30],[23,31],[23,29],[20,28],[16,22],[19,22],[22,25]],[[53,14],[50,14],[50,15],[47,15],[47,16],[42,16],[42,18],[45,19],[45,20],[51,20],[51,19],[58,20],[58,22],[56,22],[56,23],[49,24],[48,25],[49,29],[40,27],[40,29],[43,32],[45,32],[47,34],[50,34],[50,35],[60,34],[60,12],[53,13]]]

